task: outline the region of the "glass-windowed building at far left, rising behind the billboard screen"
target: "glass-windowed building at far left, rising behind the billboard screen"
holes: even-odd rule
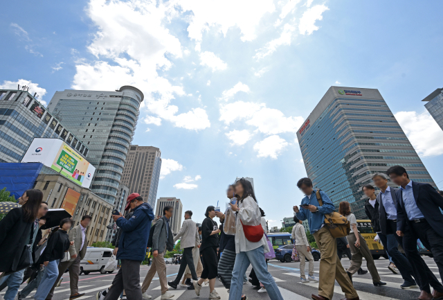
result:
[[[21,161],[36,137],[61,139],[87,157],[88,147],[35,96],[28,87],[0,90],[0,162]]]

